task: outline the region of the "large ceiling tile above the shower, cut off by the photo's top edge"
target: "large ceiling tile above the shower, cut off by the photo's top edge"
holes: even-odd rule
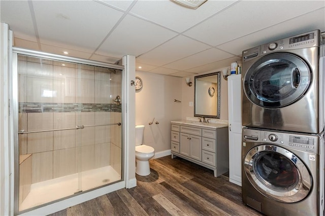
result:
[[[33,1],[33,4],[41,43],[71,49],[78,46],[80,51],[87,52],[100,45],[123,15],[94,1]]]

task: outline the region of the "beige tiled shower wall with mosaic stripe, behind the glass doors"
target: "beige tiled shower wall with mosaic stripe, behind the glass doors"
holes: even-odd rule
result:
[[[62,64],[65,64],[62,66]],[[121,173],[121,73],[18,56],[19,154],[32,154],[32,183],[111,165]],[[81,111],[81,112],[80,112]]]

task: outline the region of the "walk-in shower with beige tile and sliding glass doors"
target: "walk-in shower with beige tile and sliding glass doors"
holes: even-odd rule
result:
[[[123,179],[123,67],[53,56],[13,57],[20,213]]]

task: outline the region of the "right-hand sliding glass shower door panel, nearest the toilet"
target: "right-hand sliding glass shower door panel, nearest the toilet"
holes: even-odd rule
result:
[[[121,180],[121,95],[122,71],[78,64],[76,102],[81,113],[76,139],[81,191]]]

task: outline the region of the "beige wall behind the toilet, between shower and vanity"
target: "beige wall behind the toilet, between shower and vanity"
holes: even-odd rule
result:
[[[155,153],[170,150],[170,122],[182,116],[183,101],[174,99],[182,100],[183,79],[142,71],[136,71],[136,76],[143,81],[142,89],[136,92],[136,125],[145,126],[144,144],[153,147]]]

